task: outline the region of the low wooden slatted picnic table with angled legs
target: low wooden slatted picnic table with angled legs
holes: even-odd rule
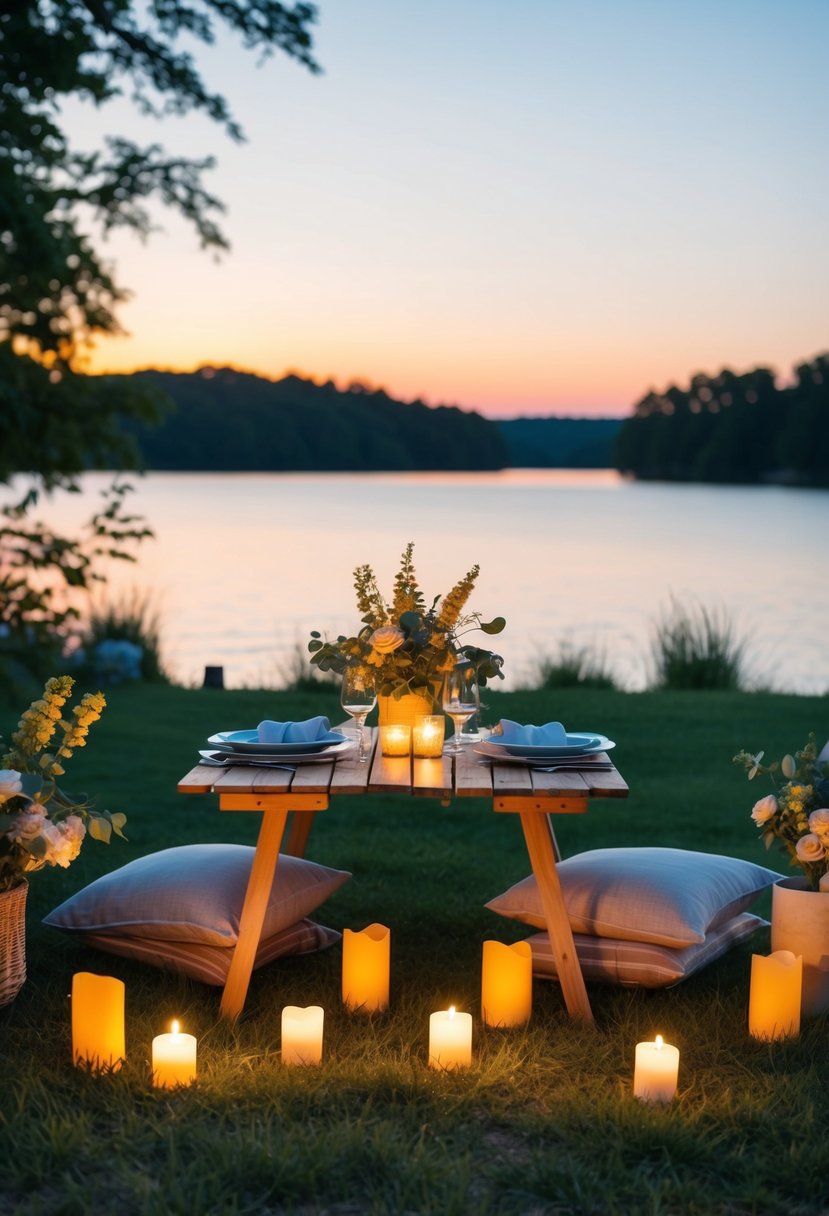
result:
[[[314,816],[339,795],[411,794],[438,798],[486,798],[492,810],[518,815],[549,934],[562,993],[570,1017],[593,1021],[570,921],[556,868],[560,860],[551,815],[583,815],[594,798],[626,798],[627,786],[614,767],[542,772],[523,764],[481,762],[470,745],[453,758],[434,760],[384,756],[377,730],[367,728],[370,760],[349,753],[340,760],[299,765],[295,772],[250,764],[224,769],[199,764],[181,778],[180,794],[218,794],[220,811],[258,811],[263,816],[239,934],[221,997],[221,1014],[242,1013],[280,851],[305,855]],[[597,758],[598,759],[598,758]],[[608,761],[605,753],[600,759]],[[291,822],[288,822],[291,816]]]

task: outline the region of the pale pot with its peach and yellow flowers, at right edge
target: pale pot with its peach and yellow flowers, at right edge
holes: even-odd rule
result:
[[[760,798],[751,818],[767,849],[778,840],[799,877],[782,878],[772,890],[772,950],[803,958],[803,1014],[829,1009],[829,762],[814,736],[794,755],[765,765],[765,753],[739,751],[752,781],[767,776],[773,793]],[[778,776],[779,775],[779,776]],[[780,777],[783,781],[780,781]]]

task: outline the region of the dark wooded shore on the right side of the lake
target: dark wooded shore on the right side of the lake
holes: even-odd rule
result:
[[[639,480],[829,486],[829,353],[778,387],[755,367],[648,392],[619,430],[615,466]]]

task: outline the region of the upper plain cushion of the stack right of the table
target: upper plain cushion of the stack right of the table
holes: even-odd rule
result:
[[[574,933],[671,948],[701,945],[780,877],[737,857],[659,848],[594,849],[557,869]],[[486,907],[547,928],[532,874]]]

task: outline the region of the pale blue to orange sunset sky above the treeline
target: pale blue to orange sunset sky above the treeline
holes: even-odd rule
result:
[[[827,0],[331,0],[312,77],[198,49],[248,136],[73,105],[213,153],[232,250],[159,210],[103,248],[134,299],[91,370],[361,378],[491,416],[829,348]]]

